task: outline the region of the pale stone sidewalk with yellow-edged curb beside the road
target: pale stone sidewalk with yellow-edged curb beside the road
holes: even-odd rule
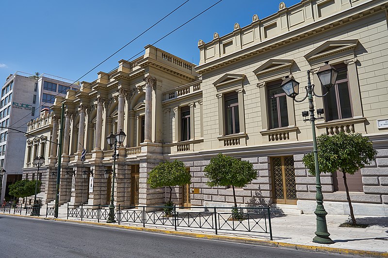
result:
[[[44,209],[42,209],[42,213],[44,213]],[[66,217],[66,209],[60,209],[58,219],[66,220]],[[345,222],[348,219],[348,216],[327,215],[326,220],[328,231],[331,234],[331,239],[335,242],[334,244],[330,245],[317,244],[312,242],[312,238],[315,236],[314,232],[316,230],[315,218],[315,215],[310,214],[272,216],[271,224],[273,241],[270,240],[269,235],[252,232],[219,230],[218,235],[216,236],[214,230],[201,228],[178,227],[177,232],[174,230],[174,227],[169,226],[146,225],[146,229],[144,229],[142,228],[143,225],[126,222],[121,222],[120,227],[137,230],[160,231],[162,233],[179,235],[183,234],[189,236],[191,233],[193,237],[224,239],[227,241],[236,240],[236,242],[257,243],[262,245],[282,246],[296,249],[349,253],[353,255],[366,255],[374,257],[388,257],[388,217],[356,216],[357,223],[369,224],[370,226],[368,228],[340,228],[338,226]],[[69,217],[69,221],[81,222],[81,219]],[[84,218],[83,222],[97,224],[97,219]],[[103,225],[104,223],[101,222],[104,221],[100,221],[99,223]],[[383,238],[386,238],[386,240],[383,240]],[[336,250],[337,248],[359,250],[360,252]],[[381,252],[385,254],[377,254],[372,252]]]

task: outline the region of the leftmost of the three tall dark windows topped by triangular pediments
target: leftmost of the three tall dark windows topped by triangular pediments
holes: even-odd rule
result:
[[[237,92],[225,94],[225,134],[240,133],[239,99]]]

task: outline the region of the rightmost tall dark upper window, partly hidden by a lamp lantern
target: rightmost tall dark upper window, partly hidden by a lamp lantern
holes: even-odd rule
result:
[[[334,67],[339,72],[336,85],[331,87],[329,93],[324,97],[327,121],[353,117],[346,65],[340,64]],[[326,88],[323,89],[323,92],[326,92]]]

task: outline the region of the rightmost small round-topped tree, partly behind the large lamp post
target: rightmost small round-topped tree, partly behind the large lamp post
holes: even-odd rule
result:
[[[322,173],[342,172],[345,184],[346,197],[349,203],[352,224],[356,225],[356,218],[350,200],[349,188],[346,182],[346,173],[354,175],[360,168],[375,161],[377,152],[373,149],[372,141],[361,134],[345,134],[317,137],[318,163]],[[303,157],[303,163],[312,175],[315,175],[314,153]]]

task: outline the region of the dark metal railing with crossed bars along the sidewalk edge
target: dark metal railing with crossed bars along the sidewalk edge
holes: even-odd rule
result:
[[[53,207],[47,206],[46,217],[53,215]],[[164,210],[163,210],[164,209]],[[177,228],[202,228],[222,231],[241,231],[269,234],[272,240],[270,207],[165,207],[165,206],[121,206],[115,207],[115,220],[146,225]],[[108,205],[67,204],[67,219],[108,219]],[[139,226],[140,226],[139,225]]]

